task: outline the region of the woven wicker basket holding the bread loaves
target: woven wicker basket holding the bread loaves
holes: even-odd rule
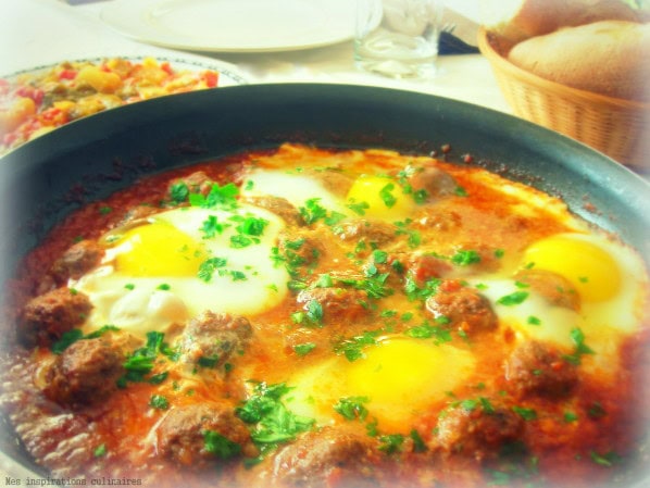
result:
[[[512,64],[499,38],[482,28],[480,52],[515,115],[577,139],[641,172],[650,171],[650,103],[551,82]]]

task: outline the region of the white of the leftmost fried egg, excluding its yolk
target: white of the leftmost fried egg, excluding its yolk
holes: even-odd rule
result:
[[[236,235],[233,216],[252,215],[264,218],[267,225],[259,243],[243,248],[230,246]],[[204,238],[200,228],[210,216],[230,223],[222,234]],[[205,310],[230,314],[255,315],[267,311],[285,298],[289,276],[284,266],[271,259],[277,236],[285,224],[278,216],[252,205],[239,205],[233,211],[201,208],[175,209],[157,214],[152,222],[171,224],[190,236],[205,250],[205,258],[218,256],[226,265],[212,274],[207,283],[190,276],[134,276],[120,270],[116,260],[126,249],[110,248],[101,265],[71,286],[86,293],[93,305],[86,327],[89,329],[111,324],[135,335],[150,330],[164,331]],[[112,232],[120,234],[120,229]],[[178,255],[159,255],[155,259],[180,259]],[[246,278],[235,279],[230,272],[240,272]],[[162,288],[162,289],[161,289]]]

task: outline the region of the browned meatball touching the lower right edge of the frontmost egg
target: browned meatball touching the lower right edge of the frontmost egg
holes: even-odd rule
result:
[[[521,439],[523,430],[523,418],[504,406],[459,405],[440,417],[434,445],[447,454],[483,461],[496,458],[503,445]]]

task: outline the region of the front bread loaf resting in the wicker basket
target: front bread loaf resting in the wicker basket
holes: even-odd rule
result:
[[[573,88],[650,101],[650,24],[602,21],[565,27],[517,43],[508,58]]]

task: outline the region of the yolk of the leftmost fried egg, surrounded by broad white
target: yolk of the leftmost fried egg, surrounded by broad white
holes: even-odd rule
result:
[[[196,276],[205,251],[165,223],[128,229],[117,240],[115,267],[129,276]]]

